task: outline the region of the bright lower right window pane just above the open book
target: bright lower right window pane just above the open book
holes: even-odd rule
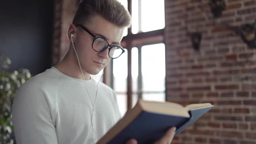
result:
[[[165,45],[141,48],[142,99],[165,101]]]

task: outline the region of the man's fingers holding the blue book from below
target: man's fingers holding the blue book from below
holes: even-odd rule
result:
[[[175,135],[175,131],[175,127],[170,128],[159,141],[155,142],[155,144],[171,144],[173,136]],[[130,139],[126,142],[126,144],[137,144],[137,141],[136,139]]]

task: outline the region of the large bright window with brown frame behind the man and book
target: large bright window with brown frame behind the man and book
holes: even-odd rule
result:
[[[124,115],[138,99],[165,101],[165,14],[164,0],[119,1],[132,12],[132,28],[122,40],[125,53],[110,67],[111,86]]]

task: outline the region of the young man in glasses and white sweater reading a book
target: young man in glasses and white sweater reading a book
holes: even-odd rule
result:
[[[94,144],[115,125],[121,118],[115,92],[90,75],[124,52],[120,42],[130,24],[131,16],[116,0],[80,1],[64,59],[27,81],[14,99],[18,144]],[[174,131],[158,143],[170,143]]]

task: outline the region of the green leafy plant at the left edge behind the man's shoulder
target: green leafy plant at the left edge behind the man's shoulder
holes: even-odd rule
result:
[[[18,88],[31,78],[28,69],[9,72],[11,60],[0,56],[0,144],[15,143],[11,107]]]

